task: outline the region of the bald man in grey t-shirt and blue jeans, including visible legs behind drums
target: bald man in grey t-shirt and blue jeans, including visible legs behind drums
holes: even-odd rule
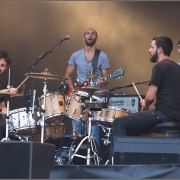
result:
[[[97,49],[95,47],[96,41],[98,39],[98,34],[96,30],[92,28],[88,28],[84,32],[83,40],[85,43],[85,47],[74,52],[68,62],[68,66],[65,73],[65,78],[68,79],[68,86],[70,91],[68,91],[68,95],[70,95],[69,92],[73,92],[75,89],[74,82],[73,82],[73,74],[76,70],[77,74],[77,85],[83,86],[84,82],[89,82],[89,79],[87,78],[87,75],[89,74],[96,74],[96,79],[93,79],[93,85],[97,87],[103,87],[108,83],[108,80],[104,80],[103,76],[109,75],[109,58],[107,54],[103,51],[100,51],[99,56],[97,56]],[[97,65],[96,63],[92,63],[92,61],[95,61],[98,57]],[[95,64],[95,65],[92,65]],[[93,68],[94,70],[93,70]],[[94,72],[95,71],[95,72]],[[92,73],[93,72],[93,73]],[[86,86],[86,85],[85,85]],[[81,90],[81,89],[80,89]],[[73,107],[73,112],[77,112],[79,107]],[[76,129],[76,132],[80,132],[80,134],[84,134],[85,126],[82,125],[82,121],[71,121],[73,122],[73,129]],[[75,122],[75,123],[74,123]],[[69,130],[69,123],[68,120],[66,123],[67,132]],[[71,125],[70,125],[71,127]],[[99,126],[98,124],[92,127],[92,135],[94,136],[97,144],[100,144],[100,137],[99,137]]]

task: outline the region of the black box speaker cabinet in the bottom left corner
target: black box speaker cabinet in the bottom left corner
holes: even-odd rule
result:
[[[0,178],[49,178],[55,145],[37,142],[0,142]]]

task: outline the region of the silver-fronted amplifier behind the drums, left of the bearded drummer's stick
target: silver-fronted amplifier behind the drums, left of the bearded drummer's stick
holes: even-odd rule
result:
[[[103,97],[107,99],[107,97]],[[111,107],[116,107],[119,109],[129,110],[131,113],[140,111],[140,99],[138,95],[110,95],[108,98],[108,104]]]

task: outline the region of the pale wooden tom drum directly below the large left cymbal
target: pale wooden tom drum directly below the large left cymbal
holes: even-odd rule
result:
[[[39,99],[39,104],[43,107],[44,96]],[[45,122],[47,124],[59,122],[64,117],[64,97],[58,92],[46,95]]]

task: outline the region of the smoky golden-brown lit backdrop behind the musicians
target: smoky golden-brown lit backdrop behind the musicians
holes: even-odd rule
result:
[[[24,72],[40,54],[54,47],[64,36],[70,35],[53,53],[36,67],[38,72],[48,68],[52,74],[64,76],[70,55],[83,47],[83,32],[93,27],[99,33],[97,47],[105,51],[111,69],[125,71],[121,79],[111,80],[105,87],[123,87],[131,82],[150,79],[153,64],[149,62],[152,37],[167,35],[174,41],[172,59],[176,62],[176,43],[180,38],[180,2],[85,2],[85,1],[12,1],[0,2],[0,48],[12,58],[11,85],[17,87]],[[30,71],[29,71],[30,72]],[[8,71],[1,77],[7,86]],[[61,80],[48,80],[48,90],[55,92]],[[32,87],[26,82],[25,95]],[[34,79],[37,97],[43,94],[43,81]],[[137,86],[145,94],[146,85]],[[121,88],[113,93],[136,94],[134,88]],[[25,106],[25,97],[11,100],[11,109]]]

